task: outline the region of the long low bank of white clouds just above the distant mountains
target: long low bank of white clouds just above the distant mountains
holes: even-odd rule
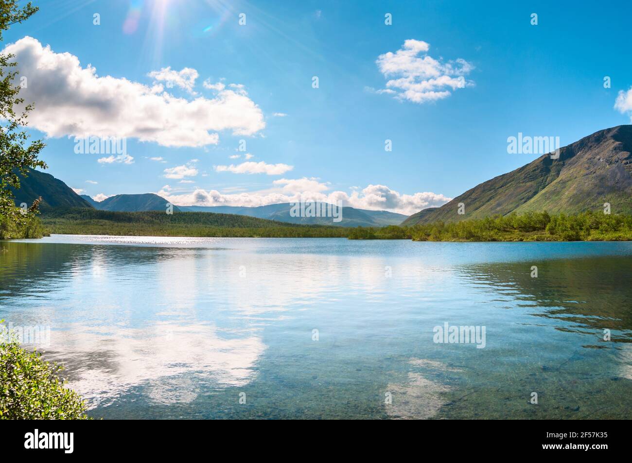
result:
[[[277,182],[275,182],[277,183]],[[176,193],[169,185],[162,187],[157,195],[166,198],[167,201],[181,206],[245,206],[257,207],[267,204],[289,203],[292,201],[325,201],[336,203],[343,201],[344,206],[370,210],[391,210],[410,215],[427,207],[441,206],[452,198],[436,193],[415,193],[414,195],[401,195],[384,185],[368,185],[362,191],[353,191],[351,195],[344,191],[324,193],[327,189],[324,183],[315,179],[281,179],[279,183],[288,189],[282,191],[269,191],[263,193],[231,193],[224,194],[213,189],[195,189],[190,193]],[[307,189],[301,189],[300,185]]]

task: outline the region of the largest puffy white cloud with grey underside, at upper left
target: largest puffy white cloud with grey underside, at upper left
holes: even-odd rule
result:
[[[18,76],[28,79],[20,97],[35,102],[28,122],[47,136],[118,136],[166,147],[202,147],[219,141],[219,131],[253,135],[265,127],[261,109],[243,86],[213,99],[176,98],[162,85],[149,87],[126,78],[97,76],[78,57],[56,53],[32,37],[7,45]],[[20,109],[20,108],[18,108]]]

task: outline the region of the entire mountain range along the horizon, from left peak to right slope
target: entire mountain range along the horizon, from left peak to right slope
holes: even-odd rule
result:
[[[426,208],[405,215],[344,207],[341,222],[331,217],[291,217],[290,203],[260,207],[174,206],[174,212],[228,213],[293,224],[382,227],[480,219],[511,212],[544,211],[577,213],[602,210],[610,203],[612,213],[632,213],[632,125],[600,130],[563,147],[559,159],[542,155],[529,164],[478,184],[442,207]],[[30,205],[42,196],[42,210],[88,207],[112,212],[166,210],[167,200],[153,193],[116,195],[104,201],[79,196],[51,174],[28,170],[21,188],[14,192],[16,204]],[[463,203],[465,213],[458,213]],[[404,220],[405,219],[405,220]]]

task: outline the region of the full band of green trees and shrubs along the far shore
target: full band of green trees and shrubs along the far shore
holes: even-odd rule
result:
[[[44,211],[22,225],[0,218],[0,238],[40,238],[47,234],[192,236],[219,238],[348,238],[413,241],[629,241],[632,215],[583,212],[527,212],[460,222],[412,226],[339,227],[304,225],[245,215],[161,211],[111,212],[88,208]]]

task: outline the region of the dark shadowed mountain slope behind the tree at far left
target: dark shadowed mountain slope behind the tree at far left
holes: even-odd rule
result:
[[[72,188],[51,174],[28,169],[27,177],[20,177],[20,189],[11,189],[16,205],[27,203],[29,206],[42,196],[40,209],[51,207],[92,207],[90,203],[77,195]]]

